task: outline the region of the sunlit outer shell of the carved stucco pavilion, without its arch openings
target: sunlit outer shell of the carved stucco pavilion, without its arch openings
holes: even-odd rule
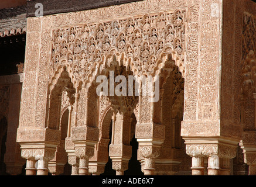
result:
[[[235,156],[243,131],[239,99],[241,86],[238,86],[241,66],[237,65],[246,56],[243,45],[246,47],[247,43],[241,40],[242,33],[255,30],[253,22],[247,22],[250,19],[244,19],[243,13],[248,11],[253,15],[254,5],[249,0],[157,2],[144,0],[28,19],[28,53],[17,136],[23,158],[29,160],[35,155],[52,157],[59,144],[56,141],[59,140],[56,137],[59,136],[56,135],[58,130],[54,130],[57,126],[48,123],[51,101],[48,91],[54,90],[64,68],[76,91],[70,110],[72,128],[66,138],[66,150],[73,167],[78,169],[80,164],[80,173],[86,174],[100,134],[97,99],[93,99],[97,77],[125,67],[139,78],[159,75],[160,82],[168,82],[169,74],[178,67],[186,80],[181,134],[186,154],[192,157],[192,174],[204,174],[205,158],[209,160],[209,175],[229,174],[228,163]],[[167,93],[168,88],[163,87],[161,89]],[[180,91],[172,106],[175,111],[182,109],[182,95]],[[168,138],[165,135],[171,131],[168,126],[175,124],[173,129],[179,131],[182,115],[181,112],[172,112],[169,115],[172,124],[167,120],[162,123],[161,103],[168,98],[163,92],[161,101],[150,103],[148,99],[151,97],[139,95],[134,109],[138,119],[139,160],[145,174],[159,172],[157,165],[162,164],[159,162],[164,152],[162,145],[166,145]],[[250,101],[252,99],[251,96]],[[112,98],[112,102],[118,103],[119,100]],[[117,106],[126,107],[120,103]],[[170,108],[165,107],[166,110]],[[48,124],[53,129],[46,128]],[[244,133],[244,137],[252,137],[252,141],[254,134]],[[40,149],[39,144],[46,142],[51,149]],[[244,146],[245,143],[243,141]],[[179,144],[175,143],[174,147],[179,148]],[[168,164],[174,162],[174,159],[168,160]],[[176,160],[176,164],[178,162]]]

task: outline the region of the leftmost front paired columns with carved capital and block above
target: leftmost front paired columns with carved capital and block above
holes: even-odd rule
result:
[[[42,137],[42,140],[31,140],[31,137]],[[60,131],[19,128],[17,141],[21,145],[21,157],[26,159],[26,175],[48,175],[48,163],[55,157]]]

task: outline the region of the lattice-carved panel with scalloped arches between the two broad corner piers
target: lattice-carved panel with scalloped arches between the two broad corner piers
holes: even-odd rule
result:
[[[69,163],[74,168],[73,174],[77,169],[81,175],[88,174],[88,163],[98,143],[97,77],[110,71],[119,74],[132,72],[142,84],[140,78],[143,76],[159,75],[162,89],[175,67],[183,76],[186,16],[184,8],[106,22],[52,27],[51,60],[47,68],[49,95],[46,108],[49,108],[49,112],[46,113],[45,127],[59,129],[60,93],[67,88],[72,109],[66,151]],[[151,86],[155,85],[157,79],[153,78]],[[140,90],[139,94],[137,100],[114,96],[110,97],[110,101],[118,125],[129,122],[131,113],[135,113],[138,119],[136,138],[139,141],[139,154],[144,162],[143,171],[148,175],[153,174],[155,158],[159,156],[165,140],[165,126],[161,124],[162,100],[150,103],[148,101],[153,97],[151,92],[144,96]],[[133,103],[135,100],[138,105]],[[53,110],[57,113],[53,113]],[[123,141],[121,135],[119,141],[118,144]],[[122,164],[127,164],[129,151],[127,158],[123,159],[124,146],[118,147],[116,144],[111,146],[110,154],[112,158],[120,157],[113,166],[122,173]],[[125,144],[129,150],[128,139]],[[112,150],[120,148],[120,155],[115,155],[117,152]]]

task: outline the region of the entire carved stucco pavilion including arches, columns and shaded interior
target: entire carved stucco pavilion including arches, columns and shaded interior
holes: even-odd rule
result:
[[[110,156],[122,175],[134,134],[145,175],[188,164],[192,175],[229,175],[239,143],[255,174],[255,12],[251,1],[145,0],[28,18],[17,133],[26,174],[60,174],[66,161],[73,175],[102,174]],[[110,71],[159,75],[159,101],[97,96]]]

